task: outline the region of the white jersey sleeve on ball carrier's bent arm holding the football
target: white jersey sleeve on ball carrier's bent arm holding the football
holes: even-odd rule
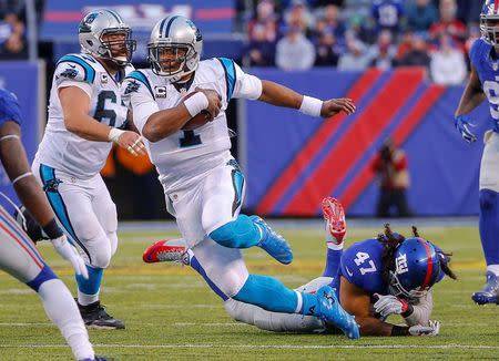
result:
[[[132,110],[133,123],[142,134],[147,118],[160,111],[156,101],[143,83],[132,78],[126,78],[123,82],[122,99]]]

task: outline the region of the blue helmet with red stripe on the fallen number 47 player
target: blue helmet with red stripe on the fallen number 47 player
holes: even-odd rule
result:
[[[407,238],[394,252],[395,271],[390,270],[389,291],[396,297],[417,299],[440,279],[440,257],[426,239]]]

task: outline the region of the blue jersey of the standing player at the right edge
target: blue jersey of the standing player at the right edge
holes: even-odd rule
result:
[[[493,131],[499,133],[499,59],[493,58],[492,52],[491,44],[485,39],[477,39],[471,47],[469,58],[489,101]]]

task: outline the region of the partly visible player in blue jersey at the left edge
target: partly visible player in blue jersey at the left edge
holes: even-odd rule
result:
[[[31,173],[21,143],[21,111],[16,96],[0,89],[0,159],[21,202],[42,226],[55,250],[71,261],[80,277],[88,278],[83,259],[68,243],[49,203]],[[95,358],[92,344],[64,283],[45,264],[28,235],[0,206],[0,269],[32,288],[40,296],[49,318],[60,329],[77,360]]]

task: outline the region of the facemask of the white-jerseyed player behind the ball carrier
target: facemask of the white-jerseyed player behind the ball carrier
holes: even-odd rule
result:
[[[119,68],[125,68],[132,60],[136,49],[136,41],[132,40],[131,29],[111,28],[102,31],[99,56],[109,60]]]

